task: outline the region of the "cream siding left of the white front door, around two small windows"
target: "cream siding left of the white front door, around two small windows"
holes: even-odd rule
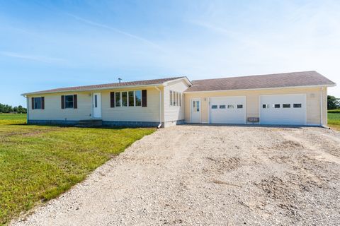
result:
[[[77,109],[62,109],[61,95],[77,94]],[[45,97],[45,109],[32,109],[31,97]],[[91,93],[57,93],[28,96],[28,120],[86,120],[91,119]]]

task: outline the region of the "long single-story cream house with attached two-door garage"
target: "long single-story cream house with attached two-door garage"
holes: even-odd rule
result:
[[[28,124],[172,126],[327,124],[327,88],[316,71],[189,81],[186,77],[24,93]]]

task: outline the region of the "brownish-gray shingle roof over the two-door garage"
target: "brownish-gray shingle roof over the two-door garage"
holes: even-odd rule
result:
[[[276,73],[259,76],[215,78],[191,81],[186,92],[211,90],[247,90],[261,88],[285,88],[312,85],[336,85],[317,71]]]

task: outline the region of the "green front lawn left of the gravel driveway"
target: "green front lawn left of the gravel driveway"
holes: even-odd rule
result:
[[[0,114],[0,225],[59,196],[155,130],[25,123],[25,114]]]

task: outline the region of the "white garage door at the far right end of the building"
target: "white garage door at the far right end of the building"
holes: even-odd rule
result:
[[[260,96],[260,124],[305,125],[306,95]]]

